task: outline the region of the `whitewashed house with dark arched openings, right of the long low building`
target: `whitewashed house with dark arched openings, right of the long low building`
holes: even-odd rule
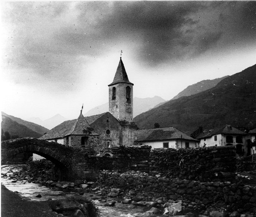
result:
[[[247,153],[247,134],[231,125],[204,130],[196,139],[200,140],[200,147],[235,145],[237,154]]]

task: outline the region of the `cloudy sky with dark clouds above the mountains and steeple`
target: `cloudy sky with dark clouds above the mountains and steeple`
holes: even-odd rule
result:
[[[121,50],[139,98],[256,64],[256,1],[5,2],[1,29],[1,111],[22,119],[108,102]]]

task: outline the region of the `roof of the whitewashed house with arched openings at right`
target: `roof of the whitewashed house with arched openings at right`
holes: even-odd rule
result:
[[[225,125],[221,128],[215,128],[215,129],[211,129],[210,131],[207,131],[206,133],[201,133],[200,135],[198,135],[197,139],[211,137],[217,134],[246,135],[245,132],[242,132],[239,129],[236,129],[233,126]]]

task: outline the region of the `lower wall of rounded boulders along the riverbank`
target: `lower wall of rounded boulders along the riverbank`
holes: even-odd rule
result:
[[[230,182],[200,182],[177,178],[166,178],[157,174],[127,171],[124,173],[101,171],[98,179],[106,191],[120,188],[120,195],[138,201],[154,201],[162,197],[168,200],[182,200],[188,208],[230,206],[232,210],[253,210],[256,203],[256,187]]]

